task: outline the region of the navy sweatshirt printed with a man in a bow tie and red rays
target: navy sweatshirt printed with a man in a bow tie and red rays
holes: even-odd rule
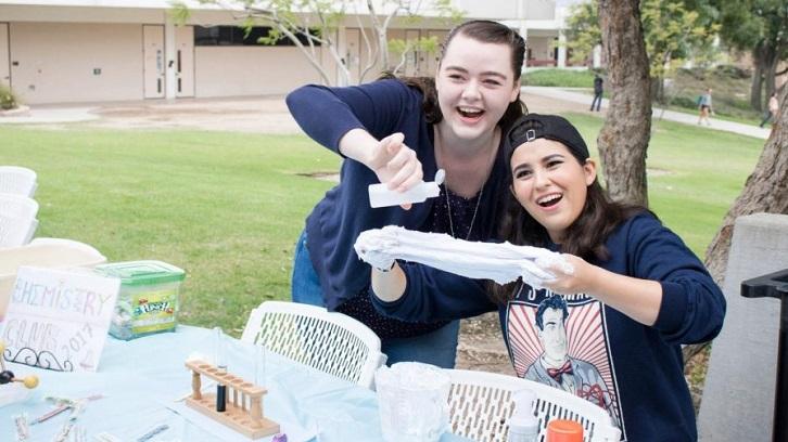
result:
[[[568,313],[565,353],[574,373],[558,378],[542,365],[545,344],[536,313],[539,303],[551,297],[547,290],[521,285],[511,301],[496,306],[482,282],[434,274],[408,278],[405,295],[395,302],[372,298],[381,312],[410,320],[467,317],[497,309],[518,376],[563,388],[608,410],[624,440],[695,441],[681,344],[707,341],[720,333],[725,299],[682,239],[650,213],[622,223],[606,245],[610,259],[592,263],[662,285],[657,322],[643,325],[583,294],[561,297]],[[444,289],[436,291],[433,286]]]

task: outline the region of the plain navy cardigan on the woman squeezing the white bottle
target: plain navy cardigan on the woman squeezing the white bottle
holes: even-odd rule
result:
[[[304,132],[338,154],[340,140],[352,129],[365,129],[378,140],[403,132],[405,144],[421,161],[424,179],[431,181],[435,176],[433,128],[424,120],[421,92],[399,80],[380,80],[349,88],[305,86],[290,93],[287,103]],[[492,236],[496,213],[503,205],[500,195],[506,192],[504,178],[507,172],[503,151],[498,150],[479,205],[480,239]],[[369,286],[370,268],[353,249],[358,234],[385,225],[424,230],[433,205],[433,200],[428,199],[410,210],[398,206],[372,209],[367,187],[379,182],[374,172],[358,161],[345,159],[340,173],[340,184],[326,194],[306,219],[307,248],[329,310],[366,292]],[[419,268],[415,266],[414,278],[431,277],[436,272]],[[436,289],[441,290],[440,287]]]

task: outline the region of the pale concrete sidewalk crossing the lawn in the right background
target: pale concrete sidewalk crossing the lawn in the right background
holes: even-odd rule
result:
[[[586,110],[588,106],[590,106],[590,102],[593,96],[589,94],[585,94],[582,92],[575,92],[571,90],[565,90],[561,88],[548,88],[548,87],[538,87],[538,86],[524,86],[522,88],[523,94],[529,95],[539,95],[545,98],[550,98],[555,100],[565,101],[565,102],[573,102],[583,104],[582,107],[579,107],[581,110]],[[607,99],[602,99],[602,108],[607,108],[609,105],[609,102]],[[664,112],[664,114],[663,114]],[[675,112],[675,110],[663,110],[661,108],[653,108],[653,117],[654,118],[662,118],[670,121],[677,121],[683,122],[685,125],[695,125],[698,123],[698,116],[694,114],[686,114],[682,112]],[[711,118],[711,126],[703,126],[704,128],[708,127],[709,129],[714,130],[723,130],[726,132],[734,132],[739,133],[742,135],[753,136],[762,140],[766,140],[768,138],[770,130],[759,128],[757,126],[750,126],[745,125],[741,122],[734,122],[734,121],[726,121],[721,120],[717,118]]]

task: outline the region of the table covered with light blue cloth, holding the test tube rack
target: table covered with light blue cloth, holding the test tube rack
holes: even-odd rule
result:
[[[17,377],[37,375],[40,384],[25,401],[0,407],[0,441],[15,440],[13,416],[26,413],[33,420],[51,411],[53,405],[45,401],[46,396],[81,399],[97,394],[104,398],[89,401],[76,421],[87,433],[86,440],[106,432],[122,441],[136,441],[164,425],[167,429],[151,441],[250,440],[183,404],[192,380],[185,362],[194,353],[212,358],[214,336],[209,329],[178,326],[176,333],[130,341],[107,337],[96,373],[61,373],[7,363]],[[264,355],[265,362],[257,365],[264,367],[262,378],[268,389],[264,414],[281,425],[289,442],[382,440],[373,391],[278,354],[255,351],[237,339],[228,338],[226,342],[228,372],[244,379],[254,380],[255,375],[260,378],[254,360],[255,355]],[[30,426],[29,440],[51,441],[69,413]],[[458,440],[462,439],[448,433],[441,439]]]

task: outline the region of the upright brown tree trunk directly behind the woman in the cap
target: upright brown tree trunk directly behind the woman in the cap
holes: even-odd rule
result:
[[[598,0],[599,27],[611,84],[610,106],[597,145],[610,196],[648,204],[646,150],[651,100],[638,0]]]

